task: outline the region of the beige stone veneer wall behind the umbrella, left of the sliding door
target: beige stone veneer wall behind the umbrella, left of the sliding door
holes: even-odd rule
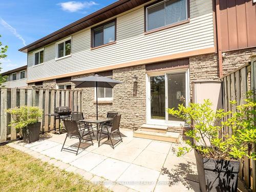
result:
[[[117,111],[121,114],[120,127],[138,129],[146,123],[146,77],[145,65],[113,70],[113,79],[123,83],[117,84],[113,90],[113,102],[98,103],[99,116],[106,116],[108,111]],[[89,76],[85,74],[73,76],[72,79]],[[138,82],[133,82],[133,76]],[[72,83],[72,89],[74,84]],[[94,101],[94,102],[93,102]],[[83,113],[86,117],[96,115],[94,88],[83,89]]]

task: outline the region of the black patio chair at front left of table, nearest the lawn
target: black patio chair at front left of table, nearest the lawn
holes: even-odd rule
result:
[[[64,122],[65,128],[67,130],[67,136],[66,136],[65,141],[62,145],[61,151],[63,149],[65,149],[65,150],[76,152],[76,155],[77,155],[80,144],[81,144],[82,141],[84,141],[84,140],[91,141],[92,145],[93,145],[93,140],[92,140],[92,136],[91,136],[91,132],[89,130],[89,127],[86,127],[86,128],[83,128],[83,129],[78,129],[77,123],[74,120],[63,120],[63,122]],[[84,138],[84,136],[87,136],[87,135],[90,135],[91,139]],[[79,139],[79,145],[78,145],[77,151],[64,147],[65,142],[67,140],[67,137]]]

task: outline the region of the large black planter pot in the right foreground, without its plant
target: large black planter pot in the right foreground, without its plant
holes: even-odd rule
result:
[[[195,155],[199,184],[202,192],[237,191],[239,161],[203,158],[196,150]]]

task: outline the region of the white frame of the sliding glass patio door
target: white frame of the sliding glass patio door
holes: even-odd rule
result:
[[[190,98],[190,89],[189,89],[189,69],[176,69],[169,71],[161,71],[161,72],[152,72],[146,73],[146,123],[147,124],[156,124],[156,125],[167,125],[167,126],[180,126],[184,125],[183,121],[168,121],[168,114],[165,113],[165,120],[151,119],[151,90],[150,90],[150,77],[157,75],[165,76],[165,108],[168,108],[168,86],[167,86],[167,74],[174,74],[179,72],[185,72],[185,80],[186,80],[186,102],[185,105],[189,104]]]

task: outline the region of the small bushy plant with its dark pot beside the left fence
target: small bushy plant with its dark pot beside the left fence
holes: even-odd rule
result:
[[[25,143],[39,140],[41,109],[37,106],[20,106],[19,108],[8,109],[7,113],[10,113],[13,118],[9,126],[13,126],[19,131]]]

